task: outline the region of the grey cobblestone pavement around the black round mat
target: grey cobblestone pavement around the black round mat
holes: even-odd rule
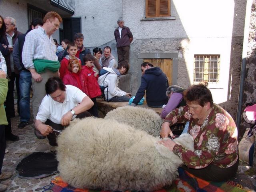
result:
[[[16,112],[17,115],[17,112]],[[32,152],[50,152],[50,145],[47,139],[38,139],[34,134],[34,126],[32,122],[23,129],[18,129],[20,123],[20,116],[16,116],[11,119],[12,121],[12,133],[20,137],[19,141],[6,142],[6,148],[9,150],[4,156],[4,163],[2,172],[12,172],[13,176],[4,181],[0,181],[1,184],[9,185],[7,192],[50,192],[52,190],[45,190],[43,187],[50,185],[52,178],[58,176],[58,173],[48,176],[42,179],[22,179],[18,178],[15,168],[17,164],[28,154]],[[235,182],[242,184],[244,187],[255,189],[256,176],[248,176],[245,171],[250,167],[239,166],[238,173],[236,174]]]

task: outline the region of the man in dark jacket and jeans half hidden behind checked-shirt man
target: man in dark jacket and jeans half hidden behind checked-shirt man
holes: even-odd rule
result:
[[[38,28],[38,26],[42,26],[43,21],[41,19],[34,19],[30,24],[30,29],[26,32],[30,32],[33,29]],[[30,120],[30,90],[31,90],[31,73],[27,70],[22,63],[22,48],[25,42],[26,34],[19,35],[13,48],[13,62],[14,67],[20,72],[20,124],[18,128],[24,128],[29,120]]]

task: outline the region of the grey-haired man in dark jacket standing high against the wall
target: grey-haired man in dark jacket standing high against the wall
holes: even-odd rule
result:
[[[118,28],[114,31],[116,39],[118,63],[122,60],[129,61],[130,43],[133,40],[132,32],[126,26],[124,26],[124,20],[117,20]]]

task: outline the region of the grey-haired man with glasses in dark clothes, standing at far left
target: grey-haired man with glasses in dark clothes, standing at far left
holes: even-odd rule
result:
[[[5,136],[6,139],[11,140],[11,141],[17,141],[19,140],[19,137],[12,134],[11,130],[11,121],[10,118],[11,116],[15,116],[14,112],[14,82],[16,84],[16,90],[18,94],[18,101],[17,103],[20,102],[20,88],[19,88],[19,79],[20,75],[18,70],[14,67],[13,63],[13,58],[12,58],[12,52],[13,52],[13,46],[18,38],[18,35],[22,34],[21,32],[18,32],[16,28],[16,20],[12,17],[6,17],[4,18],[4,23],[6,24],[6,35],[3,37],[6,41],[6,46],[9,49],[10,54],[5,57],[6,60],[6,66],[7,66],[7,74],[8,77],[10,78],[10,82],[8,82],[8,93],[6,97],[6,117],[8,120],[8,125],[5,126]],[[18,105],[18,113],[19,113],[20,107]]]

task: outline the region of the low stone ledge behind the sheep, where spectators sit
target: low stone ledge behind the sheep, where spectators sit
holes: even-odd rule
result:
[[[97,99],[97,105],[98,105],[98,111],[99,111],[99,116],[101,118],[104,118],[104,116],[106,116],[106,114],[110,111],[112,111],[113,109],[116,109],[118,107],[123,107],[128,105],[128,102],[106,102],[100,98]],[[144,107],[144,108],[148,108],[148,109],[152,109],[154,111],[156,111],[157,114],[161,114],[162,112],[162,108],[152,108],[147,106],[147,104],[143,104],[143,105],[137,105],[136,107]]]

